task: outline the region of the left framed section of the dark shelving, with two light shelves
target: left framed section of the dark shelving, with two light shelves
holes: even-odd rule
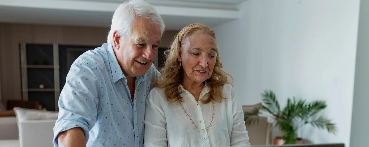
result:
[[[20,55],[23,100],[39,101],[46,110],[57,111],[60,94],[58,44],[21,43]]]

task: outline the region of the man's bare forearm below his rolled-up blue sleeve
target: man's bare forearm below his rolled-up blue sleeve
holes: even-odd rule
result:
[[[82,128],[72,128],[58,134],[59,147],[86,147],[85,133]]]

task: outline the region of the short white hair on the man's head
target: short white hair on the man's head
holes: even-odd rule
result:
[[[128,0],[120,4],[117,10],[115,10],[107,42],[113,43],[114,31],[117,31],[118,35],[123,38],[130,36],[137,18],[146,19],[151,23],[159,25],[161,35],[163,35],[165,24],[156,9],[144,0]]]

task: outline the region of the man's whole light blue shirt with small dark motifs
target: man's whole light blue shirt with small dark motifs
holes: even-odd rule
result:
[[[132,101],[111,44],[83,53],[70,67],[59,97],[58,133],[81,127],[87,147],[142,147],[145,102],[160,73],[154,65],[136,77]]]

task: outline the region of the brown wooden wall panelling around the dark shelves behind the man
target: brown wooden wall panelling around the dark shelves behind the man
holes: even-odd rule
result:
[[[59,43],[101,46],[109,28],[0,23],[0,78],[2,102],[21,100],[19,43]],[[163,34],[160,47],[168,47],[176,31]]]

